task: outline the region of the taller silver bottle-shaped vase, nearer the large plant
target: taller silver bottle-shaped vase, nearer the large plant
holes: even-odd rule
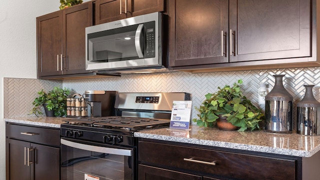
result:
[[[293,96],[283,86],[284,74],[273,75],[272,90],[265,96],[265,130],[268,132],[292,132]]]

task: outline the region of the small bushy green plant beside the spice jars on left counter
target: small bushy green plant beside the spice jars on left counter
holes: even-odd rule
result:
[[[32,104],[34,107],[31,109],[30,114],[38,116],[42,114],[40,109],[41,106],[46,108],[48,111],[53,110],[54,116],[65,116],[66,115],[66,97],[70,91],[66,88],[54,87],[51,91],[45,92],[43,89],[37,92],[38,97],[34,98]],[[45,110],[47,113],[47,111]],[[49,114],[46,114],[50,116]],[[52,116],[52,115],[51,115]]]

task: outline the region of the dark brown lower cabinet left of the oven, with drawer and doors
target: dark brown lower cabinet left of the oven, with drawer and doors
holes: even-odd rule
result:
[[[56,142],[59,129],[7,123],[6,180],[60,179],[60,148]]]

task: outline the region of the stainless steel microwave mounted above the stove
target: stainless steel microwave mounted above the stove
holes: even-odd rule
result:
[[[162,16],[154,12],[86,27],[85,69],[166,68]]]

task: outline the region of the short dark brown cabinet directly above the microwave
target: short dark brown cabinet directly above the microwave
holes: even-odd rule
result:
[[[164,0],[96,0],[95,24],[164,10]]]

